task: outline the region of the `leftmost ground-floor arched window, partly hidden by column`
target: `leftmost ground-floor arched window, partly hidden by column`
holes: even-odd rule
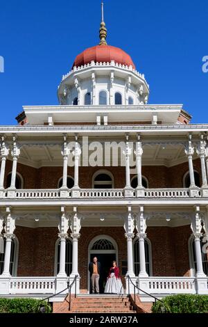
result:
[[[12,239],[11,255],[10,255],[10,275],[17,276],[17,262],[18,262],[19,242],[17,237]],[[4,253],[0,253],[0,275],[3,273],[4,255],[6,250],[6,239],[3,240]]]

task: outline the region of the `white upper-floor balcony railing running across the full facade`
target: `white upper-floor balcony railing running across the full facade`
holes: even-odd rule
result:
[[[60,189],[17,189],[0,191],[0,198],[15,199],[59,199],[59,198],[99,198],[99,199],[115,199],[115,198],[146,198],[146,199],[175,199],[175,198],[201,198],[207,197],[207,193],[202,193],[202,189],[194,189],[191,193],[190,189],[143,189],[137,192],[132,189],[125,193],[125,189],[78,189],[76,193],[69,189],[64,191],[64,196]]]

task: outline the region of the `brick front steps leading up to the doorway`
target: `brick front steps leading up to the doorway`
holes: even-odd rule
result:
[[[71,311],[69,303],[54,303],[54,313],[137,313],[132,307],[128,296],[118,295],[78,295],[71,302]]]

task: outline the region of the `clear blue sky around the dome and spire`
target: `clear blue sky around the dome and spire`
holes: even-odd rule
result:
[[[101,1],[0,1],[1,125],[23,105],[58,104],[74,58],[98,44]],[[105,0],[107,42],[132,56],[150,84],[150,104],[184,104],[208,122],[207,0]]]

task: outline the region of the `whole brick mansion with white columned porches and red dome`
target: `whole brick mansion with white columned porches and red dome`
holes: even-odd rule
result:
[[[125,294],[208,294],[208,125],[148,104],[144,74],[106,36],[102,21],[58,105],[0,126],[0,296],[61,302],[76,276],[73,294],[90,294],[94,256],[101,293],[116,260]]]

